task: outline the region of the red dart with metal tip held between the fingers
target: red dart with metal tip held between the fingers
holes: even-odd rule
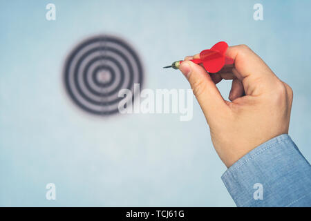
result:
[[[225,41],[220,41],[211,49],[202,50],[200,52],[200,59],[192,59],[190,61],[195,64],[202,64],[208,73],[217,73],[225,64],[234,64],[234,59],[225,56],[228,44]],[[175,61],[171,66],[164,68],[178,69],[182,61]]]

